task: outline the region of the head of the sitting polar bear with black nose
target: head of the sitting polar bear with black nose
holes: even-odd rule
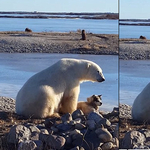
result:
[[[102,69],[94,62],[89,61],[87,63],[87,79],[93,82],[103,82],[105,77],[102,73]]]

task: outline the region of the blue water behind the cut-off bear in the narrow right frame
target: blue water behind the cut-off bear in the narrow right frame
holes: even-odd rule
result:
[[[150,82],[150,60],[120,60],[120,102],[132,105]]]

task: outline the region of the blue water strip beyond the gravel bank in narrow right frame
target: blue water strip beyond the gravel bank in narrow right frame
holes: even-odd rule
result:
[[[149,26],[119,26],[119,38],[139,38],[141,35],[150,39],[150,27]]]

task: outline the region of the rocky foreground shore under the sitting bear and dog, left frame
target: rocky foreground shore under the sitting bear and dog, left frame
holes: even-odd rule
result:
[[[87,116],[76,110],[60,119],[31,119],[14,112],[15,100],[0,97],[0,149],[117,150],[118,108]],[[9,107],[5,107],[9,105]]]

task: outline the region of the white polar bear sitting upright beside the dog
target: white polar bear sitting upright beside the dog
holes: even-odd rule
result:
[[[23,85],[16,97],[16,113],[32,118],[72,113],[77,108],[80,83],[104,80],[102,69],[92,61],[61,59]]]

